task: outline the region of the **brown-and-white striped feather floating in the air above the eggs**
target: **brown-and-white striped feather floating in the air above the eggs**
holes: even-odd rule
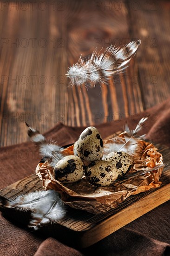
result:
[[[86,61],[80,57],[65,75],[71,79],[71,85],[85,85],[86,88],[106,83],[110,76],[128,67],[140,43],[141,40],[134,40],[122,48],[111,45],[102,54],[97,54],[95,50]]]

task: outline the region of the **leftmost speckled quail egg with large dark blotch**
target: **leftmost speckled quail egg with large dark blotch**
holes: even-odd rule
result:
[[[78,156],[67,155],[54,167],[54,178],[63,183],[77,182],[84,175],[84,163]]]

